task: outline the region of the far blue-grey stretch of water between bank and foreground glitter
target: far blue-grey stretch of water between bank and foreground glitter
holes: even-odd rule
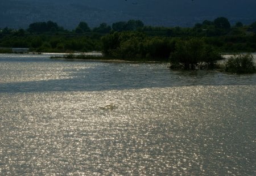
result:
[[[0,92],[105,91],[189,85],[255,85],[256,75],[171,71],[166,64],[72,62],[48,55],[0,57]]]

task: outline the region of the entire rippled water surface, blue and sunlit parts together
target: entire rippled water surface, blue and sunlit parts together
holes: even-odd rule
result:
[[[0,175],[256,175],[256,74],[0,55]]]

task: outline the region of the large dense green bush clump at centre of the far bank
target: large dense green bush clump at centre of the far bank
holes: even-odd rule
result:
[[[165,37],[141,32],[114,32],[102,37],[105,55],[129,60],[168,61],[174,45]]]

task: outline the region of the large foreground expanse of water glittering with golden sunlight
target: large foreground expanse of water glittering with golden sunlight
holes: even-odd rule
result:
[[[254,92],[201,86],[2,95],[2,173],[253,174]],[[109,104],[115,108],[101,108]]]

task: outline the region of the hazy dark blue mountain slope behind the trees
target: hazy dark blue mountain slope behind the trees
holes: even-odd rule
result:
[[[191,27],[225,16],[230,23],[256,21],[255,0],[1,0],[0,28],[27,28],[52,20],[66,29],[84,21],[100,23],[139,19],[146,25]]]

